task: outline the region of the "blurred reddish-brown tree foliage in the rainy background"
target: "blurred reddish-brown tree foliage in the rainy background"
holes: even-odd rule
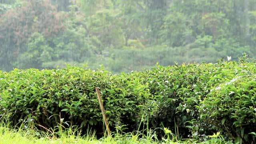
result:
[[[62,20],[63,16],[49,0],[24,0],[21,7],[0,17],[0,41],[25,44],[34,32],[46,38],[56,36],[64,28]]]

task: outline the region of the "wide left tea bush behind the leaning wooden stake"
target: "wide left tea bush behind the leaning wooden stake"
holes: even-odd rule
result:
[[[157,108],[138,80],[128,81],[108,71],[68,67],[57,70],[13,70],[0,74],[0,114],[13,125],[33,121],[46,128],[70,122],[102,131],[102,114],[95,87],[101,88],[110,126],[126,124],[134,129],[144,113]],[[62,119],[62,120],[61,120]]]

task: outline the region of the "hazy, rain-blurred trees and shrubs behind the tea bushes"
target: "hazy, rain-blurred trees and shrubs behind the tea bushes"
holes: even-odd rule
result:
[[[0,0],[0,70],[113,73],[256,54],[255,0]]]

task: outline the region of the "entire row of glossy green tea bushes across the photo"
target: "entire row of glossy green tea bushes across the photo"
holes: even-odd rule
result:
[[[58,124],[96,130],[104,123],[95,87],[100,87],[110,129],[125,132],[169,128],[182,138],[255,143],[256,62],[182,64],[114,75],[68,66],[0,72],[1,120],[40,130]],[[156,130],[157,131],[157,130]],[[163,134],[157,131],[158,136]]]

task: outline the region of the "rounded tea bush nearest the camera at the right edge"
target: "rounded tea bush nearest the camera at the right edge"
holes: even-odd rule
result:
[[[225,79],[215,85],[197,106],[202,130],[222,132],[226,138],[242,143],[255,143],[256,64],[224,63],[214,77]]]

